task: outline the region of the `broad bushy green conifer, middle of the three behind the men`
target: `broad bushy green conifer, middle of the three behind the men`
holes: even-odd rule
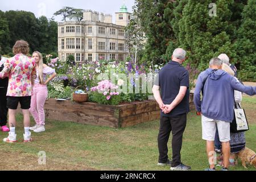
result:
[[[216,16],[209,15],[210,3],[212,0],[188,0],[174,29],[179,46],[188,51],[187,61],[200,70],[208,68],[209,60],[220,53],[226,53],[231,58],[236,57],[228,33],[232,28],[230,21],[233,13],[229,7],[233,5],[233,1],[216,1]]]

